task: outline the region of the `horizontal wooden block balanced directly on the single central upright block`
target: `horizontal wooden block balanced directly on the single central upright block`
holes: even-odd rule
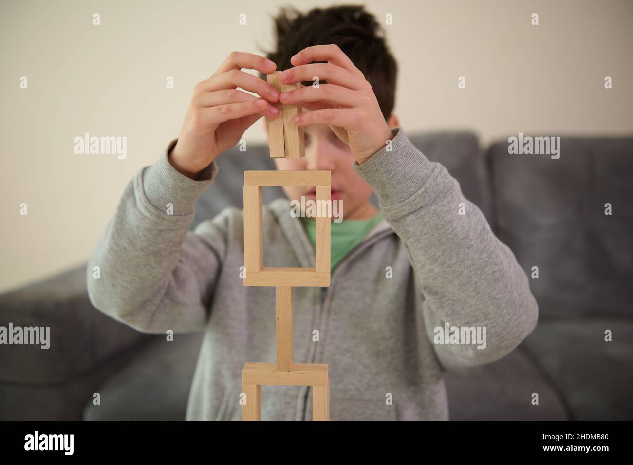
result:
[[[315,268],[262,268],[248,271],[244,276],[245,286],[261,287],[329,287],[330,273],[317,273]]]

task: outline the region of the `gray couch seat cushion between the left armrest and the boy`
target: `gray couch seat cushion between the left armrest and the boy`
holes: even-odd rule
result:
[[[125,368],[96,392],[101,405],[89,399],[87,421],[183,421],[203,333],[164,335],[142,347]]]

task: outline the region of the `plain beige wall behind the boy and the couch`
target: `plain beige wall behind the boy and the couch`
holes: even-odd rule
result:
[[[0,290],[87,260],[123,187],[177,137],[194,85],[231,51],[270,46],[269,14],[284,3],[0,3]],[[633,133],[632,1],[367,6],[381,22],[393,15],[396,113],[407,132],[468,129],[482,144],[518,132]],[[174,89],[165,88],[168,76]],[[458,89],[460,76],[467,89]],[[126,136],[127,159],[74,154],[73,139],[85,132]],[[259,123],[246,133],[249,143],[264,137]]]

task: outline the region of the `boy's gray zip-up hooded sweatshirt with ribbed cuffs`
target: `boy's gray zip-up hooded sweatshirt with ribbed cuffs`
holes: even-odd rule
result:
[[[536,326],[513,253],[446,168],[393,133],[391,147],[354,161],[384,221],[330,287],[292,290],[294,361],[328,364],[331,420],[446,420],[442,372],[496,361]],[[239,420],[244,364],[275,362],[275,288],[242,283],[241,209],[189,231],[218,166],[181,175],[167,158],[176,142],[125,188],[87,266],[89,297],[141,332],[204,332],[186,418]],[[264,207],[263,236],[265,266],[315,266],[289,200]],[[265,385],[261,402],[263,420],[312,418],[310,387]]]

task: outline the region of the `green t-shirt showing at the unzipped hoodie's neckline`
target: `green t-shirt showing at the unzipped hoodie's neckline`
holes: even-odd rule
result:
[[[382,213],[379,211],[368,220],[342,220],[339,223],[330,223],[330,271],[334,270],[341,259],[348,254],[351,249],[360,244],[363,239],[378,223],[382,221]],[[315,219],[301,216],[303,228],[308,233],[312,247],[315,246]]]

